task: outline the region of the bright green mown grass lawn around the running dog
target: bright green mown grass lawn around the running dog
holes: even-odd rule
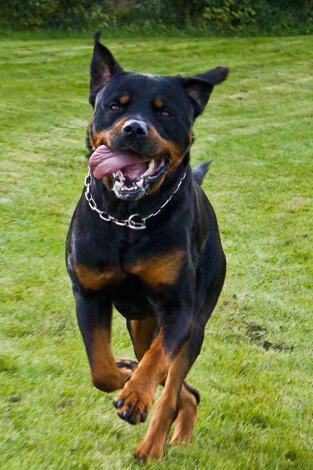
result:
[[[135,469],[147,423],[122,422],[91,386],[64,260],[87,172],[92,40],[0,43],[0,468]],[[228,260],[189,374],[199,418],[191,446],[167,445],[148,468],[311,470],[312,37],[106,44],[126,70],[231,70],[191,152],[213,159],[203,187]],[[134,356],[118,314],[113,349]]]

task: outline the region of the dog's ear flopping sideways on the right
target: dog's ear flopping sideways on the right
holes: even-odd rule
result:
[[[197,75],[181,77],[186,93],[193,102],[195,118],[202,113],[207,105],[214,85],[223,82],[227,74],[227,67],[216,67],[207,72],[197,73]]]

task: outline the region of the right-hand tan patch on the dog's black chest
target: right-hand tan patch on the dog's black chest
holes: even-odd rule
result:
[[[130,268],[141,281],[156,288],[161,284],[174,284],[179,276],[184,252],[175,250],[162,256],[153,256]]]

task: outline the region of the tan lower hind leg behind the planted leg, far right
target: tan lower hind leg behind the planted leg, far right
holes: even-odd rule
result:
[[[198,403],[193,393],[182,385],[179,395],[179,414],[175,421],[175,429],[170,444],[189,443],[196,424]]]

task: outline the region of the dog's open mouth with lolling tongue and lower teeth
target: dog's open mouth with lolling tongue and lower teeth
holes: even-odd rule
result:
[[[142,197],[168,164],[163,157],[149,159],[130,151],[111,151],[106,145],[100,145],[89,159],[94,177],[112,175],[112,190],[123,199]]]

